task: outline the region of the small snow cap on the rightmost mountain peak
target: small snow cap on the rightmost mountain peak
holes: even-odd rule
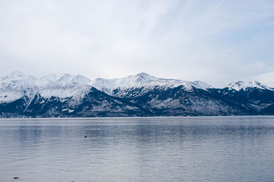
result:
[[[254,81],[254,82],[243,82],[243,81],[238,81],[238,82],[231,82],[230,84],[227,85],[228,90],[237,90],[240,91],[241,89],[246,90],[247,88],[257,88],[257,89],[268,89],[271,91],[274,91],[273,88],[266,86],[260,82]]]

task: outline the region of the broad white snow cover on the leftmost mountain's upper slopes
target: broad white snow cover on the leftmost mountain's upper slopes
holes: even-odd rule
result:
[[[73,96],[77,101],[90,90],[91,86],[87,85],[90,81],[84,76],[65,73],[36,78],[21,72],[12,72],[0,78],[0,103],[9,103],[24,96],[30,102],[36,94],[44,98]]]

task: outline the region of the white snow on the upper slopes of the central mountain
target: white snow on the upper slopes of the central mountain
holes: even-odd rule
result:
[[[97,78],[91,81],[90,85],[110,95],[113,95],[113,91],[116,89],[117,91],[130,88],[153,89],[155,86],[161,86],[163,88],[175,88],[182,85],[186,90],[192,90],[193,87],[204,90],[213,88],[212,86],[200,81],[190,82],[177,79],[162,79],[150,76],[147,73],[139,73],[137,75],[131,75],[125,78]]]

